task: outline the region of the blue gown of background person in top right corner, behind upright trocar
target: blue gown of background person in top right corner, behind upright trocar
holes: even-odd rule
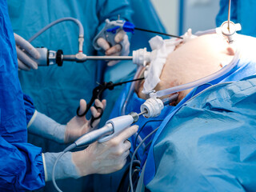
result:
[[[221,26],[222,22],[227,21],[229,0],[220,1],[220,10],[216,17],[216,25]],[[232,0],[230,19],[232,22],[239,22],[242,30],[239,34],[246,34],[256,37],[256,1],[254,0]]]

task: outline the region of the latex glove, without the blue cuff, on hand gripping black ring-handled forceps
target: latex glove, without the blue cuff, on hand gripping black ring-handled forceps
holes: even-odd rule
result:
[[[103,110],[106,107],[106,100],[103,99],[100,102],[98,99],[95,100],[95,106],[101,107]],[[80,110],[79,114],[84,113],[86,111],[86,101],[84,99],[80,100]],[[91,114],[97,118],[100,113],[94,106],[90,107]],[[100,122],[100,118],[93,122],[93,129],[97,128],[98,123]],[[78,117],[77,115],[70,120],[66,124],[66,131],[64,136],[64,142],[74,142],[77,138],[82,136],[82,134],[86,134],[90,130],[90,120],[87,120],[86,117]]]

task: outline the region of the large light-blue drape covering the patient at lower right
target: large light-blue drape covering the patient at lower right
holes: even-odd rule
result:
[[[211,86],[182,106],[154,144],[150,191],[255,191],[256,76]]]

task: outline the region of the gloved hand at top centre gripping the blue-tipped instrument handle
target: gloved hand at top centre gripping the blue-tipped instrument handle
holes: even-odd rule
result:
[[[114,37],[114,42],[117,42],[115,46],[110,47],[110,43],[106,42],[104,38],[98,38],[98,46],[102,47],[105,50],[106,55],[119,56],[119,55],[128,55],[130,53],[130,42],[128,35],[124,30],[120,30]],[[114,66],[119,61],[110,61],[107,63],[108,66]]]

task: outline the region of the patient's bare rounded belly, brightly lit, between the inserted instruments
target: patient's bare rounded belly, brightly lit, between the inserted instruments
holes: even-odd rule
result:
[[[165,90],[204,78],[220,70],[222,63],[229,63],[233,56],[234,50],[218,34],[206,34],[191,39],[168,55],[160,76],[161,82],[155,90]],[[142,89],[143,84],[138,86],[138,96],[146,98],[146,95],[142,94]],[[185,90],[179,93],[178,101],[189,92],[190,90]]]

